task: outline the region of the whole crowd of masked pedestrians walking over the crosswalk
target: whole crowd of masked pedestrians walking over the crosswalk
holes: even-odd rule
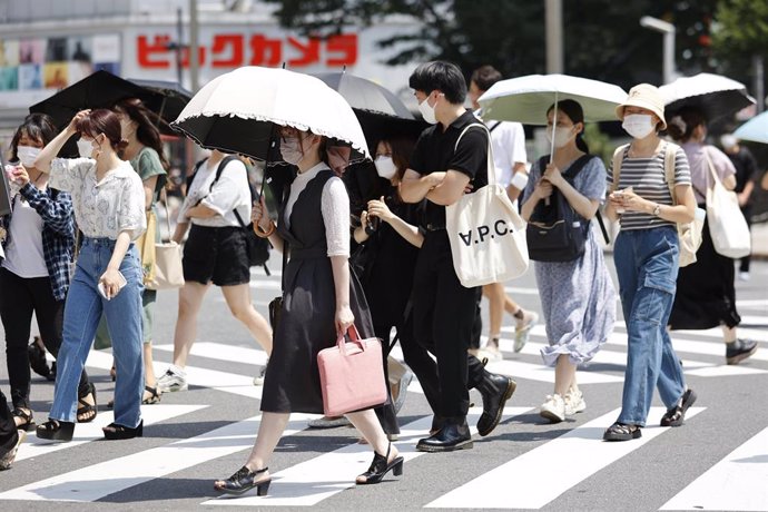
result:
[[[373,462],[355,482],[375,484],[388,472],[402,474],[404,459],[392,441],[414,375],[433,412],[416,450],[472,449],[470,390],[482,397],[476,430],[486,436],[518,385],[485,367],[486,358],[503,357],[504,312],[515,322],[514,352],[539,322],[505,294],[503,283],[466,287],[454,268],[446,209],[489,184],[489,151],[496,181],[525,220],[535,223],[557,203],[570,209],[583,237],[574,256],[533,263],[548,342],[541,357],[554,368],[541,416],[562,422],[585,410],[577,371],[611,337],[618,294],[628,362],[621,413],[603,439],[640,437],[657,387],[667,407],[661,425],[682,425],[697,394],[686,384],[669,331],[721,326],[728,364],[749,357],[757,344],[737,336],[732,259],[717,254],[705,226],[698,262],[680,268],[677,225],[693,220],[697,205],[706,203],[708,166],[740,194],[748,215],[754,159],[732,137],[722,139],[725,154],[707,145],[707,119],[699,110],[668,119],[659,90],[643,83],[617,108],[631,142],[618,148],[608,169],[589,152],[584,111],[574,100],[542,108],[553,150],[529,165],[520,124],[482,121],[477,98],[500,79],[484,66],[467,86],[454,65],[419,66],[408,86],[430,126],[417,137],[392,132],[368,140],[373,161],[346,169],[368,176],[365,187],[339,176],[345,148],[308,129],[278,127],[279,156],[288,166],[273,171],[291,176],[278,189],[276,216],[263,194],[252,195],[242,158],[213,150],[198,163],[171,236],[177,243],[186,237],[185,284],[178,291],[173,364],[158,378],[151,355],[156,292],[145,286],[148,269],[137,249],[157,215],[169,168],[154,115],[138,99],[125,99],[110,109],[78,112],[58,134],[47,116],[30,115],[9,150],[12,215],[2,219],[0,232],[0,316],[11,397],[8,404],[0,393],[0,469],[10,467],[27,432],[37,427],[40,439],[67,442],[77,423],[97,417],[96,388],[85,371],[95,338],[111,344],[115,357],[109,402],[115,421],[104,435],[141,436],[141,405],[188,388],[187,358],[211,284],[268,356],[254,380],[264,386],[254,447],[239,470],[214,483],[217,491],[268,492],[269,461],[289,414],[324,412],[317,354],[353,325],[361,337],[382,341],[387,398],[315,425],[348,422],[370,445]],[[464,107],[467,99],[474,111]],[[79,158],[58,157],[75,136]],[[590,228],[601,211],[620,225],[613,250],[618,287]],[[247,220],[257,237],[285,255],[282,305],[272,326],[250,302]],[[151,236],[159,242],[159,234]],[[748,258],[739,276],[748,278]],[[481,347],[483,295],[490,326]],[[55,398],[39,424],[30,405],[27,355],[33,313],[57,360]],[[406,367],[390,357],[393,341]]]

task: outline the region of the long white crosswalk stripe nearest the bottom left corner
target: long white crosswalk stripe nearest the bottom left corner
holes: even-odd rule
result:
[[[307,426],[316,415],[295,414],[285,435]],[[0,493],[0,500],[92,502],[170,473],[247,450],[260,416],[216,429],[188,440],[145,450]],[[211,482],[213,488],[213,482]]]

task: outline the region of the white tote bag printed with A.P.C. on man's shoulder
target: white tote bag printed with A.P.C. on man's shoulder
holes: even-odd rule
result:
[[[485,187],[465,194],[445,207],[445,229],[451,242],[453,267],[467,288],[501,283],[519,277],[528,269],[525,221],[496,183],[491,134],[485,125],[474,122],[461,132],[480,127],[488,132],[488,181]]]

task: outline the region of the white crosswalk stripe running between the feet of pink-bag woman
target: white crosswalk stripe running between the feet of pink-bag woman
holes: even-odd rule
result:
[[[529,407],[504,407],[504,415],[516,416],[528,411],[530,411]],[[481,412],[479,407],[470,410],[467,423],[471,425],[476,423]],[[426,416],[408,423],[401,430],[401,441],[394,444],[406,462],[424,455],[424,452],[416,451],[416,443],[425,436],[431,424],[432,417]],[[471,427],[471,430],[473,435],[476,434],[476,429]],[[267,498],[255,496],[252,491],[242,498],[220,498],[201,504],[259,508],[312,506],[345,489],[354,488],[355,476],[367,470],[371,459],[370,446],[351,444],[273,474]],[[388,477],[392,477],[392,474]]]

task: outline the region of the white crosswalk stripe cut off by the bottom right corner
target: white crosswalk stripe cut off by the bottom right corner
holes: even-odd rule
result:
[[[660,510],[768,510],[768,429],[729,453]]]

